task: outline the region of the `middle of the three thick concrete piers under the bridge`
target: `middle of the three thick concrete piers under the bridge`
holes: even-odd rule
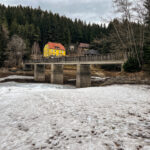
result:
[[[63,84],[63,65],[52,64],[51,65],[51,83],[52,84]]]

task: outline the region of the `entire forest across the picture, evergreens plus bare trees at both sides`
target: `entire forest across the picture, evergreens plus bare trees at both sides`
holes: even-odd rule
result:
[[[91,49],[100,54],[129,52],[124,65],[126,70],[147,70],[150,64],[150,0],[145,0],[140,7],[128,0],[113,2],[122,19],[113,19],[108,25],[73,21],[40,7],[0,5],[0,66],[12,57],[16,60],[29,58],[35,42],[42,52],[44,45],[51,41],[60,42],[66,48],[71,43],[89,43]],[[132,19],[133,14],[136,20]]]

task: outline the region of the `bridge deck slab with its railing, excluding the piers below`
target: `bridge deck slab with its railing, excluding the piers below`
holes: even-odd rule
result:
[[[25,61],[25,64],[123,64],[126,60],[124,54],[107,54],[98,56],[77,56],[42,58]]]

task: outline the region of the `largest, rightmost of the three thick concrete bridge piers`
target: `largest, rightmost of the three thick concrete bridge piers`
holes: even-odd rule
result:
[[[91,86],[91,71],[90,65],[77,65],[76,87],[90,87]]]

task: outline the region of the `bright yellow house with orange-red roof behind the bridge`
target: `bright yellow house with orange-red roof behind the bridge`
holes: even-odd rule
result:
[[[44,47],[43,55],[44,57],[66,56],[66,50],[65,50],[65,47],[60,43],[48,42]]]

